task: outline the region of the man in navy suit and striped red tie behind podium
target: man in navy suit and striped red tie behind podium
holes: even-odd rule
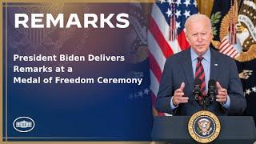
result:
[[[216,115],[240,115],[246,109],[242,84],[234,60],[210,48],[213,38],[210,19],[194,14],[185,23],[190,49],[167,58],[156,102],[157,110],[174,115],[192,115],[202,110],[194,100],[194,79],[202,78],[202,97],[208,81],[216,81],[218,94],[207,110]]]

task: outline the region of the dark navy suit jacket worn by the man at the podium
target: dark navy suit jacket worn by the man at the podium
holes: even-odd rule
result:
[[[243,96],[242,84],[233,58],[210,49],[210,79],[219,82],[227,90],[230,96],[230,109],[227,110],[214,100],[208,110],[216,115],[242,115],[246,109],[246,99]],[[176,109],[171,110],[170,99],[174,95],[174,90],[177,90],[182,82],[185,82],[184,93],[189,97],[189,102],[180,103]],[[190,49],[167,58],[158,91],[157,110],[174,115],[192,115],[202,110],[202,106],[194,100],[193,87],[194,75]]]

